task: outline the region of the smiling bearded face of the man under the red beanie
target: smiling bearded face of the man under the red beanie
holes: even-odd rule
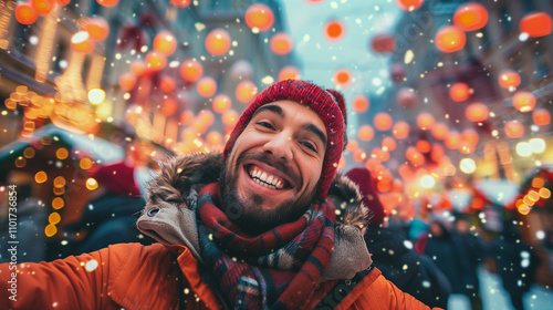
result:
[[[298,219],[316,193],[327,136],[307,106],[259,107],[237,138],[221,175],[225,210],[251,234]]]

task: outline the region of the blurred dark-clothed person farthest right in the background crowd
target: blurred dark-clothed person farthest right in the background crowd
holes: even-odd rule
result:
[[[540,258],[524,241],[519,227],[511,223],[503,224],[498,238],[490,242],[488,254],[495,262],[495,270],[514,309],[523,310],[523,297],[534,282]]]

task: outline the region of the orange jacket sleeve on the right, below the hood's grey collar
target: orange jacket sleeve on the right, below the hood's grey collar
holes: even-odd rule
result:
[[[403,292],[375,268],[357,285],[336,309],[430,309],[428,306]],[[440,308],[432,308],[440,309]]]

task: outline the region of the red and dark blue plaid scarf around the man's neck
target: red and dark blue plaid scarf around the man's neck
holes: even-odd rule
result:
[[[210,281],[233,309],[306,306],[328,267],[334,247],[334,206],[321,200],[300,219],[249,236],[218,207],[219,184],[198,197],[200,256]]]

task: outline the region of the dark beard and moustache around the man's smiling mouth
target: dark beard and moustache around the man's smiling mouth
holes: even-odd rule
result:
[[[250,199],[240,197],[238,194],[238,168],[240,163],[246,159],[254,159],[281,170],[290,176],[298,188],[302,187],[301,177],[299,177],[285,163],[270,158],[263,154],[241,154],[236,164],[232,165],[225,161],[220,176],[222,210],[228,218],[240,229],[249,235],[257,236],[270,229],[299,219],[310,207],[315,196],[317,185],[304,195],[294,195],[271,209],[261,209],[259,206],[263,203],[262,195],[253,194]]]

